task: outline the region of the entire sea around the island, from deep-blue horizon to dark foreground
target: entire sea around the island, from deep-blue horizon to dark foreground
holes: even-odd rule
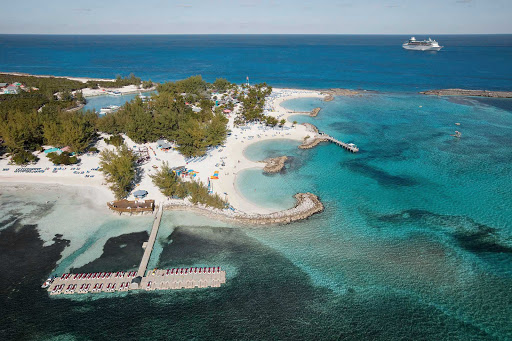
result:
[[[39,286],[52,272],[136,268],[151,217],[113,216],[69,186],[3,184],[1,338],[511,340],[512,100],[417,92],[512,90],[512,36],[436,36],[437,53],[405,51],[407,38],[0,36],[0,71],[377,90],[284,103],[321,107],[291,119],[358,154],[291,140],[245,150],[290,158],[280,174],[240,173],[242,195],[287,208],[309,191],[324,212],[255,228],[164,214],[150,267],[219,265],[218,289],[49,297]]]

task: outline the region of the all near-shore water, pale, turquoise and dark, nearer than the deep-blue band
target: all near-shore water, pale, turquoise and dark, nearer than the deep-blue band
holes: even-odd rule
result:
[[[330,144],[302,151],[290,140],[248,147],[253,160],[291,162],[282,174],[240,174],[245,196],[285,208],[311,191],[325,211],[255,228],[167,212],[149,266],[222,266],[228,281],[219,289],[50,298],[39,286],[56,269],[136,268],[151,217],[113,216],[83,192],[3,187],[1,332],[34,340],[510,339],[512,111],[493,103],[337,98],[320,103],[317,118],[292,119],[353,141],[360,153]],[[461,139],[450,136],[455,129]]]

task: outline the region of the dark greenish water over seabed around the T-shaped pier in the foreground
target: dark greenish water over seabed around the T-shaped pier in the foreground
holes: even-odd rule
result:
[[[111,238],[100,258],[107,264],[125,251],[128,256],[130,245],[144,237]],[[50,298],[39,286],[68,241],[56,236],[52,245],[43,246],[35,225],[14,223],[1,230],[3,340],[491,339],[480,328],[408,296],[353,288],[335,294],[316,287],[290,260],[243,230],[178,227],[167,242],[159,267],[219,264],[228,270],[226,285]]]

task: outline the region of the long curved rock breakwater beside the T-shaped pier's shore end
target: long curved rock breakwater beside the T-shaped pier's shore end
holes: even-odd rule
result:
[[[170,200],[168,203],[163,204],[163,209],[191,211],[211,217],[212,219],[244,225],[289,224],[297,220],[307,219],[324,210],[322,202],[312,193],[297,193],[294,197],[297,203],[293,208],[268,214],[250,214],[238,211],[219,210],[206,206],[193,205],[184,200]]]

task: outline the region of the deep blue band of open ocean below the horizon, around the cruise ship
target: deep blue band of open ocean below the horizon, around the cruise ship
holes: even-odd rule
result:
[[[0,35],[0,71],[154,81],[200,74],[301,88],[408,91],[512,88],[512,35],[440,35],[439,53],[409,35]],[[416,38],[428,38],[417,36]]]

